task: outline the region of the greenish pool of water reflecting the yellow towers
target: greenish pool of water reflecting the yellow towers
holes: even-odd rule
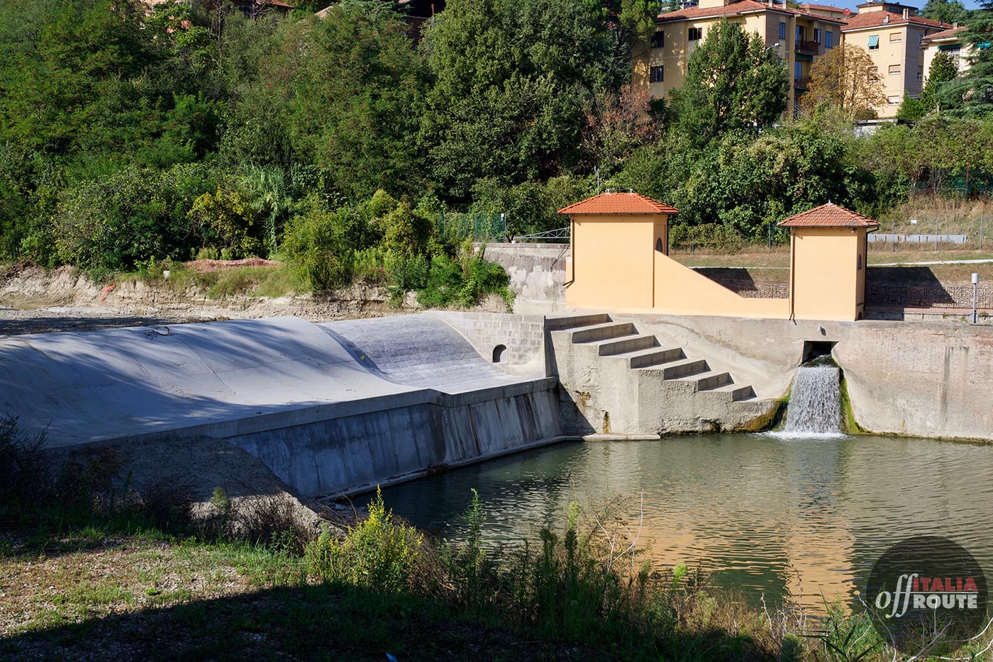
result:
[[[993,448],[927,440],[713,435],[563,444],[384,490],[397,514],[464,532],[477,488],[491,542],[561,527],[568,503],[631,498],[639,544],[663,564],[700,563],[747,599],[851,599],[894,542],[941,535],[993,568]]]

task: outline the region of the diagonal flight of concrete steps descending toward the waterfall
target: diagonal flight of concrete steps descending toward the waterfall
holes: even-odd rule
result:
[[[559,318],[550,329],[573,344],[596,348],[600,357],[623,361],[631,370],[658,373],[663,380],[690,382],[696,391],[729,396],[733,402],[755,397],[752,386],[736,384],[731,373],[712,369],[706,359],[689,358],[682,347],[663,346],[657,336],[638,332],[634,323],[605,322],[609,317]]]

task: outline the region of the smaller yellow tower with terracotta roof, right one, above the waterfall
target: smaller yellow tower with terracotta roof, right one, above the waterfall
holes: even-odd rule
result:
[[[780,221],[789,228],[789,316],[861,320],[868,233],[879,222],[828,202]]]

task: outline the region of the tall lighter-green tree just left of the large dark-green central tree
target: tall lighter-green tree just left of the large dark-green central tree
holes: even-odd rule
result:
[[[426,70],[395,12],[346,1],[291,26],[261,73],[298,159],[355,199],[418,188],[415,145]]]

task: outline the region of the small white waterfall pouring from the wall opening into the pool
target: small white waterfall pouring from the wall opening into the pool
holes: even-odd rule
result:
[[[786,433],[841,434],[840,372],[836,367],[799,367],[786,408]]]

